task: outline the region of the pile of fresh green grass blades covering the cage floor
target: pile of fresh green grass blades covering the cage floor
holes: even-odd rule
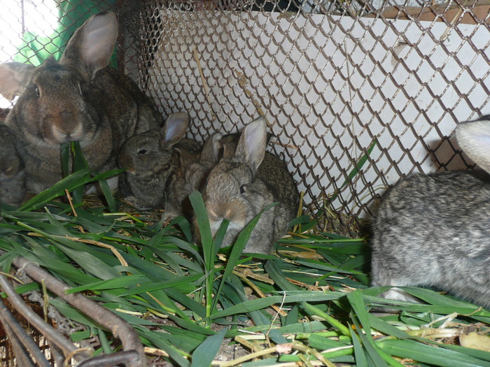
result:
[[[220,248],[226,223],[212,238],[197,192],[190,199],[202,246],[183,217],[164,225],[116,213],[109,194],[107,206],[53,201],[111,174],[93,178],[81,168],[18,209],[3,206],[1,271],[19,255],[35,261],[123,317],[148,351],[175,366],[490,366],[489,311],[427,289],[407,288],[426,304],[379,298],[388,287],[369,287],[367,240],[318,231],[310,217],[291,223],[275,254],[248,255],[242,249],[258,217],[233,247]],[[99,336],[96,354],[118,350],[90,317],[56,296],[49,302],[86,326],[73,341]],[[400,314],[370,312],[385,305]],[[471,340],[477,349],[462,346]],[[214,361],[223,343],[249,354]]]

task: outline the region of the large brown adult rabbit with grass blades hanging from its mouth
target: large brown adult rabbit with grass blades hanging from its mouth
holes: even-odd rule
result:
[[[62,178],[59,144],[79,141],[95,171],[116,168],[123,143],[158,129],[153,103],[127,76],[108,66],[118,22],[92,15],[71,37],[59,62],[0,65],[0,93],[19,96],[5,124],[25,163],[27,189],[36,194]]]

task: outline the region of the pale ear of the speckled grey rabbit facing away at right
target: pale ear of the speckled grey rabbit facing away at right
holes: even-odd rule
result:
[[[490,173],[490,115],[477,121],[460,122],[456,138],[463,152]]]

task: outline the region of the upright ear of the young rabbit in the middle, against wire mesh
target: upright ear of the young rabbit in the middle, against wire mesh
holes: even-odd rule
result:
[[[248,164],[255,172],[265,156],[267,145],[267,132],[264,117],[253,120],[241,133],[235,152],[235,159]]]

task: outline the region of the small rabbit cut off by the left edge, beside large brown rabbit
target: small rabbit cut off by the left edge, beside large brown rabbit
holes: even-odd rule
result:
[[[25,197],[24,164],[8,127],[0,124],[0,202],[18,206]]]

